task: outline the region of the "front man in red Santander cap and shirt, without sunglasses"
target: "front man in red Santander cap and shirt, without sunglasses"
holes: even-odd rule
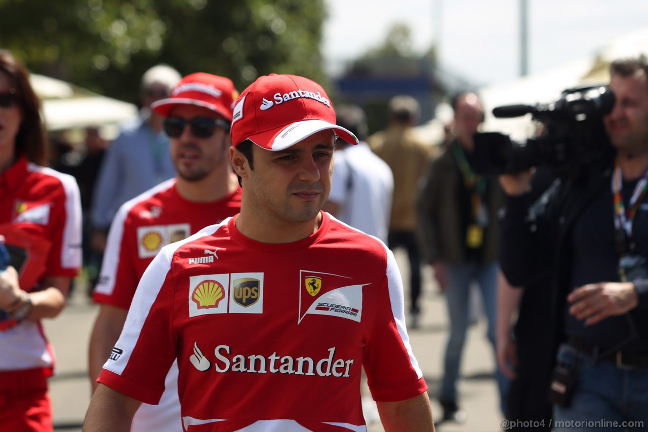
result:
[[[84,431],[128,431],[176,359],[187,431],[366,431],[362,366],[386,431],[433,431],[393,254],[321,211],[336,134],[358,143],[323,88],[260,77],[231,134],[241,211],[152,261]]]

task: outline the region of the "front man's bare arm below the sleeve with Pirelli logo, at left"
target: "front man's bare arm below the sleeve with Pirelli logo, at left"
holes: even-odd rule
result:
[[[139,400],[99,384],[90,400],[83,431],[129,432],[139,405]]]

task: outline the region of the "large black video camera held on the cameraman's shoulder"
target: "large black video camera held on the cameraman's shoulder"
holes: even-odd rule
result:
[[[614,101],[607,86],[583,86],[562,91],[561,99],[549,104],[494,108],[499,118],[531,114],[542,123],[542,133],[524,142],[499,132],[475,134],[473,169],[498,175],[550,165],[561,175],[591,163],[611,149],[603,115],[612,111]]]

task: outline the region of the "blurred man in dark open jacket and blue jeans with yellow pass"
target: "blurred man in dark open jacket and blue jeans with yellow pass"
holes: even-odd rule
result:
[[[450,335],[443,361],[439,403],[441,420],[463,422],[457,380],[470,322],[470,287],[477,283],[488,320],[488,338],[495,350],[498,283],[498,210],[503,204],[496,179],[473,171],[473,135],[483,122],[480,99],[463,93],[453,103],[455,138],[434,160],[419,196],[421,246],[443,289]],[[503,409],[507,378],[496,372]]]

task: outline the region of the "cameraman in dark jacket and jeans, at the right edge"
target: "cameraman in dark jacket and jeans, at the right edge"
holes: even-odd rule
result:
[[[607,156],[536,204],[532,172],[500,176],[508,195],[500,258],[513,285],[553,274],[552,307],[538,325],[549,323],[562,341],[550,390],[555,420],[648,425],[647,60],[616,60],[610,76]]]

